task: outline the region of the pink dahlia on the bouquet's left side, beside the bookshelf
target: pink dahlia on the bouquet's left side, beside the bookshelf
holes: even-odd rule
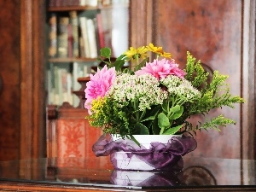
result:
[[[114,67],[108,69],[107,66],[104,66],[102,70],[98,68],[95,75],[90,74],[90,81],[86,83],[84,90],[86,98],[84,108],[87,108],[90,112],[92,100],[98,96],[104,97],[115,78],[116,73]]]

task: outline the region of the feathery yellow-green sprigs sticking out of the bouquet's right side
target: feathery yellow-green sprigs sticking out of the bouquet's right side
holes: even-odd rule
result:
[[[195,88],[199,89],[204,85],[204,89],[201,89],[201,97],[196,101],[187,104],[184,108],[184,113],[180,119],[180,122],[184,121],[183,132],[194,132],[201,129],[213,128],[219,131],[218,126],[226,126],[229,124],[236,124],[234,120],[226,119],[223,115],[207,120],[205,123],[199,122],[199,125],[193,127],[186,119],[193,118],[195,114],[207,114],[213,108],[221,108],[228,106],[234,108],[235,103],[245,102],[240,96],[232,96],[230,94],[229,84],[225,83],[228,78],[227,75],[219,74],[218,71],[213,72],[212,81],[210,84],[206,83],[209,73],[206,73],[201,67],[200,61],[195,63],[195,58],[189,54],[187,56],[186,76]]]

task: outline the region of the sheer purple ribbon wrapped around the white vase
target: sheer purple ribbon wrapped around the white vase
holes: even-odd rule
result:
[[[182,156],[195,150],[196,141],[193,137],[172,137],[167,144],[154,142],[149,149],[139,147],[136,143],[127,143],[127,139],[119,139],[113,142],[111,135],[102,135],[92,146],[96,156],[110,155],[113,166],[116,160],[113,153],[117,151],[127,152],[127,157],[137,155],[137,158],[153,166],[155,170],[173,170],[175,167],[183,168]]]

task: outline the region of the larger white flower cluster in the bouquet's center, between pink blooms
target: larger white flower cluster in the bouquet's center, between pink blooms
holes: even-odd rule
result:
[[[161,105],[167,98],[167,92],[160,89],[158,79],[150,74],[140,76],[123,73],[115,79],[108,90],[108,96],[122,108],[129,103],[140,111],[152,105]]]

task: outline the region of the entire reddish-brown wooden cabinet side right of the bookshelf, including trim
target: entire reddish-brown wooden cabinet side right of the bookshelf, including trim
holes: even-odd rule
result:
[[[256,157],[255,4],[253,0],[131,1],[132,46],[153,42],[171,52],[181,67],[189,50],[213,70],[228,74],[230,92],[247,100],[236,109],[212,110],[212,117],[224,113],[235,119],[236,125],[223,127],[220,132],[198,132],[198,147],[189,155]],[[204,118],[194,117],[193,121],[197,119]]]

